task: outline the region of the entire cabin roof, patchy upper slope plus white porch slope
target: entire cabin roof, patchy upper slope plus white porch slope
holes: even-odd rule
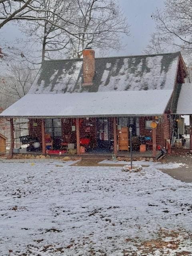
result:
[[[96,58],[92,86],[82,86],[82,59],[44,61],[30,91],[6,117],[163,114],[172,96],[180,52]]]

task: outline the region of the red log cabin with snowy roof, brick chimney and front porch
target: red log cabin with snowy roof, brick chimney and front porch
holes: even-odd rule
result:
[[[172,140],[187,75],[180,52],[95,58],[88,48],[83,59],[42,62],[28,94],[0,116],[10,118],[12,148],[13,118],[28,118],[30,139],[43,154],[65,153],[62,143],[69,142],[78,155],[126,154],[131,126],[133,149],[156,158],[156,147]]]

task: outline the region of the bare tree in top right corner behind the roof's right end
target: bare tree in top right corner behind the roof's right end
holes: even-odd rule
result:
[[[156,50],[159,45],[166,52],[180,49],[191,58],[192,0],[166,0],[164,10],[156,10],[152,18],[156,22],[156,40],[152,40],[153,34],[148,48]]]

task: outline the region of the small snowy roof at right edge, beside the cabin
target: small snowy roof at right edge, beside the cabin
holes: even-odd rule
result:
[[[192,84],[182,84],[175,114],[192,114]]]

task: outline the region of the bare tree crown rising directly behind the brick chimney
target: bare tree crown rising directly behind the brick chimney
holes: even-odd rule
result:
[[[80,58],[88,46],[121,50],[121,35],[130,35],[126,17],[116,0],[74,0],[79,38],[70,38],[70,55]]]

